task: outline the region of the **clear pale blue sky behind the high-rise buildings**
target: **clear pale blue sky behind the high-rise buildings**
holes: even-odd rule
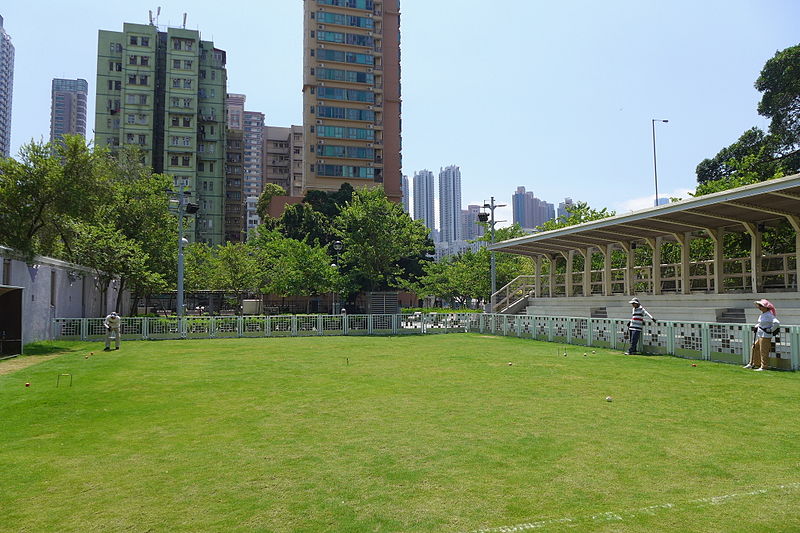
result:
[[[307,0],[310,1],[310,0]],[[227,52],[228,92],[267,124],[302,120],[302,2],[3,2],[16,48],[12,156],[49,136],[53,78],[89,82],[94,124],[97,31],[187,28]],[[223,6],[220,8],[220,6]],[[753,126],[753,83],[800,43],[796,0],[402,0],[403,173],[461,168],[462,204],[490,197],[511,221],[524,186],[626,213],[686,198],[695,167]],[[508,222],[499,224],[507,225]]]

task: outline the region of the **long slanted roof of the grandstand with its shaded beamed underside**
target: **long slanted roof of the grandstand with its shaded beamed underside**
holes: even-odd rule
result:
[[[800,174],[745,185],[577,226],[526,235],[489,246],[521,255],[549,255],[705,230],[746,231],[791,220],[800,229]]]

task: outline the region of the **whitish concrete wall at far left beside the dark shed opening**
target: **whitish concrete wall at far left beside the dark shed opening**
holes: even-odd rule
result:
[[[97,278],[86,267],[50,257],[37,256],[32,264],[16,258],[8,248],[0,247],[0,284],[22,287],[22,335],[25,343],[48,340],[55,317],[84,318],[105,316],[114,308],[116,282],[105,301],[96,286]],[[121,313],[127,311],[127,292],[121,301]]]

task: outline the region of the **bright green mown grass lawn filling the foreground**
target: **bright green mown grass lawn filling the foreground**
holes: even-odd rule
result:
[[[60,344],[0,375],[0,531],[800,531],[794,373],[477,334]]]

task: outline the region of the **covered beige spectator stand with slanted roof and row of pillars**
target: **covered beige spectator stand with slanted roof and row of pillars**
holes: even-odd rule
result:
[[[795,251],[765,255],[763,235],[778,226],[793,230]],[[725,256],[724,239],[730,233],[749,241],[746,257]],[[690,244],[698,238],[710,239],[713,246],[710,257],[693,261]],[[679,260],[663,263],[662,251],[670,242],[678,245]],[[637,253],[643,247],[646,253]],[[752,301],[767,297],[791,320],[784,323],[800,324],[800,174],[489,248],[531,256],[535,264],[534,275],[519,276],[492,295],[493,312],[621,317],[629,314],[628,297],[635,295],[651,310],[658,308],[659,318],[749,322],[750,314],[756,314]],[[582,268],[576,269],[576,263]]]

